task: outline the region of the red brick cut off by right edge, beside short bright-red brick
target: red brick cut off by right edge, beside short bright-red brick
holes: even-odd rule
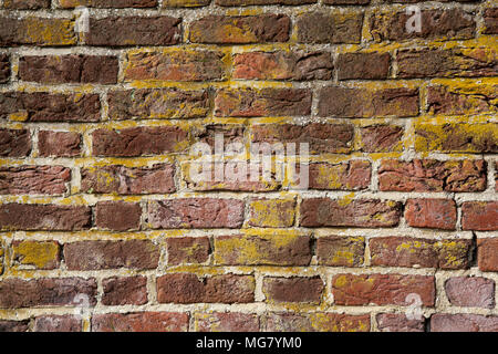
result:
[[[466,201],[461,205],[464,230],[498,230],[498,201]]]

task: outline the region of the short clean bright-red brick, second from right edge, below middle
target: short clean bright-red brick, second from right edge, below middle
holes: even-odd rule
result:
[[[455,230],[457,220],[455,200],[408,199],[405,219],[414,228]]]

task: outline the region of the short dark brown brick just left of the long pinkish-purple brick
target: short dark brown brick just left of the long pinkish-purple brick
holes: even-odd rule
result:
[[[100,201],[95,207],[95,226],[114,231],[137,230],[141,227],[139,204]]]

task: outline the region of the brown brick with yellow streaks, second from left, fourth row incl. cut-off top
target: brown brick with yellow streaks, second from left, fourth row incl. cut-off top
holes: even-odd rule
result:
[[[177,88],[112,91],[108,116],[112,119],[198,118],[209,111],[207,91]]]

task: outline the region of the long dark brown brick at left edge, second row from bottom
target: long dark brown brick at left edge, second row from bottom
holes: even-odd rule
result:
[[[96,304],[94,278],[8,278],[0,281],[0,309],[77,305],[81,296]]]

